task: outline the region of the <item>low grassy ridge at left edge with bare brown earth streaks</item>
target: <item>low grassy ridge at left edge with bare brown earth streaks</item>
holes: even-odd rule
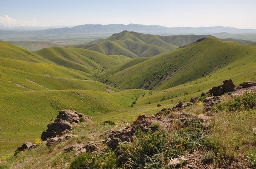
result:
[[[0,93],[67,89],[86,89],[97,91],[106,91],[106,89],[115,90],[113,87],[100,82],[72,79],[72,77],[59,78],[38,75],[3,67],[0,67],[0,75]]]

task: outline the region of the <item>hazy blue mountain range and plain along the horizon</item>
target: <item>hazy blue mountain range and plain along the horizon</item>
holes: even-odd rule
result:
[[[175,34],[217,34],[227,32],[229,34],[256,34],[256,29],[239,29],[223,26],[212,27],[177,27],[168,28],[159,25],[139,25],[139,24],[109,24],[109,25],[78,25],[71,28],[50,28],[43,30],[0,30],[1,40],[35,40],[35,39],[52,39],[53,37],[78,38],[81,36],[92,36],[93,34],[108,37],[111,34],[121,31],[136,31],[147,34],[175,35]],[[225,37],[230,38],[230,37]]]

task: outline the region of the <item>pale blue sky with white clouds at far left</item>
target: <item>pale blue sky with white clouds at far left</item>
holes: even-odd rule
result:
[[[256,28],[256,0],[0,0],[0,25]]]

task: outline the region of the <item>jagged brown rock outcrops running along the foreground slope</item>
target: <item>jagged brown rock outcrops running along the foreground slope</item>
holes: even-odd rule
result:
[[[64,152],[70,152],[75,150],[75,156],[85,152],[89,153],[101,153],[106,149],[111,149],[117,155],[118,160],[122,161],[124,156],[118,152],[119,145],[131,143],[134,140],[134,136],[137,131],[143,132],[155,132],[161,130],[163,132],[173,132],[175,130],[186,129],[195,127],[196,130],[202,131],[202,136],[207,135],[211,130],[210,120],[212,115],[208,113],[195,115],[184,112],[184,110],[192,105],[198,104],[199,98],[202,100],[204,111],[207,112],[212,109],[213,106],[221,102],[224,93],[229,93],[231,97],[241,96],[245,92],[256,93],[256,82],[244,82],[239,86],[235,86],[231,79],[225,80],[223,85],[212,87],[208,92],[203,92],[201,96],[192,97],[190,102],[183,105],[182,102],[175,107],[164,108],[155,115],[139,115],[137,119],[125,128],[120,130],[109,130],[104,133],[105,139],[98,141],[88,141],[88,143],[81,144],[76,143],[67,145],[63,148]],[[93,123],[87,115],[76,112],[75,110],[61,110],[57,115],[55,121],[47,125],[47,130],[41,135],[43,140],[42,144],[47,146],[55,146],[62,141],[69,138],[80,137],[79,135],[71,134],[73,126],[80,122]],[[253,128],[253,131],[256,129]],[[102,133],[98,133],[99,137],[103,136]],[[35,149],[39,145],[25,142],[20,146],[15,154],[24,149]],[[202,163],[202,152],[196,150],[194,152],[187,152],[182,156],[176,156],[176,158],[170,158],[168,161],[169,168],[216,168],[213,163]],[[225,166],[226,165],[226,166]],[[250,168],[250,164],[247,161],[236,159],[232,163],[224,163],[224,168]]]

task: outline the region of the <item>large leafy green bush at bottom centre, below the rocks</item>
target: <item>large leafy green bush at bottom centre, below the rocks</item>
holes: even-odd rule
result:
[[[131,143],[121,144],[118,151],[123,155],[122,167],[163,168],[168,162],[169,135],[163,131],[143,132],[138,130]],[[157,157],[153,158],[153,157]]]

